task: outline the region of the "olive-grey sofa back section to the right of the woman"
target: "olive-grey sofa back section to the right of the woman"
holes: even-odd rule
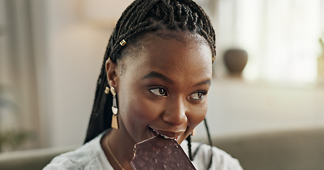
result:
[[[281,130],[214,139],[249,170],[323,170],[324,128]]]

